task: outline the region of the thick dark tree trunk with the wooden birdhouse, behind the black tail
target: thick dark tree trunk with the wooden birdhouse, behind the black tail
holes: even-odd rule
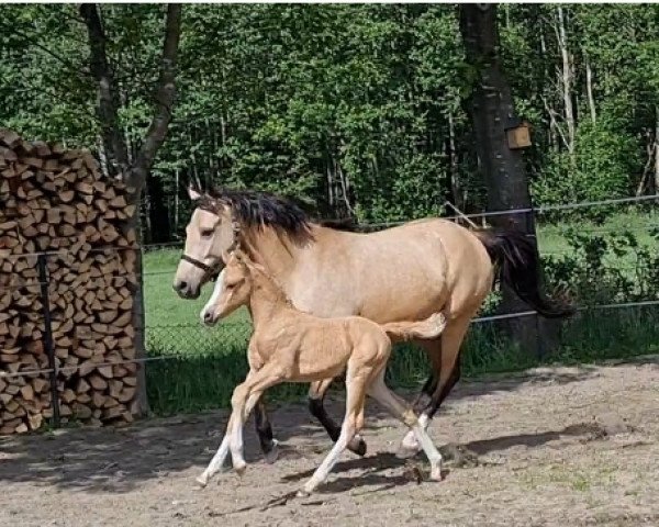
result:
[[[530,208],[528,181],[522,150],[509,148],[505,128],[517,115],[510,86],[500,67],[495,4],[460,5],[460,30],[467,61],[476,69],[477,82],[467,101],[474,131],[479,165],[488,188],[490,210]],[[492,216],[492,224],[535,236],[533,214]],[[507,288],[503,288],[504,312],[526,311]],[[534,317],[512,319],[509,329],[525,349],[538,352]]]

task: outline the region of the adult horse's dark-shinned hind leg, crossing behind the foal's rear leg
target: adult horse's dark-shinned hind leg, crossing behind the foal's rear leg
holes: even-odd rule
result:
[[[472,314],[470,313],[469,316],[461,316],[460,318],[450,321],[442,334],[440,343],[438,343],[439,345],[436,347],[435,354],[431,356],[434,374],[438,379],[438,382],[431,395],[431,400],[418,416],[418,422],[424,429],[427,429],[439,405],[460,379],[460,368],[458,366],[460,346],[469,328],[471,317]],[[431,352],[429,348],[426,349]],[[403,458],[411,457],[420,450],[421,445],[416,440],[416,436],[412,431],[409,431],[401,441],[398,455]]]

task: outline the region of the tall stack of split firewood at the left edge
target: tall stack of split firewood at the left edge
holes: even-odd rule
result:
[[[102,177],[89,152],[29,143],[0,128],[0,434],[38,428],[54,414],[45,307],[59,414],[132,421],[137,284],[130,189]],[[38,253],[46,253],[44,306]]]

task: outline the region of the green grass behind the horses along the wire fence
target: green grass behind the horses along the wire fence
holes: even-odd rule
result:
[[[641,244],[655,247],[647,232],[648,225],[657,223],[657,214],[627,214],[611,216],[597,226],[582,222],[579,227],[632,228]],[[568,251],[566,228],[540,226],[540,251]],[[170,360],[149,362],[146,369],[149,400],[157,414],[225,407],[233,388],[247,370],[245,350],[252,332],[247,312],[241,310],[212,328],[203,326],[199,313],[212,288],[204,288],[194,301],[179,299],[171,290],[179,257],[180,249],[165,249],[147,253],[144,260],[147,350],[153,356],[171,357]],[[607,258],[610,265],[626,264],[616,261],[617,257],[613,255]],[[659,309],[582,313],[561,325],[556,339],[557,349],[549,356],[539,357],[536,349],[523,350],[513,345],[500,324],[476,324],[462,355],[463,375],[521,370],[540,363],[592,362],[659,352]],[[417,388],[427,373],[428,361],[421,349],[396,347],[388,370],[392,386]],[[305,391],[306,385],[287,384],[270,391],[268,396],[281,401],[299,399]]]

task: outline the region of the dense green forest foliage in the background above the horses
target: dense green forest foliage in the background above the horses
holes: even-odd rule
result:
[[[573,153],[557,9],[500,9],[506,75],[518,113],[534,127],[525,157],[535,203],[628,195],[641,182],[654,192],[647,171],[659,105],[659,7],[562,7]],[[26,136],[100,148],[76,8],[2,12],[0,122]],[[474,76],[456,15],[440,4],[186,5],[175,122],[147,197],[161,205],[152,215],[167,217],[154,216],[160,223],[146,228],[165,238],[181,231],[182,188],[196,178],[298,195],[325,216],[362,221],[438,214],[446,199],[482,210],[462,110]],[[122,127],[135,152],[150,120],[163,7],[108,4],[102,16]]]

